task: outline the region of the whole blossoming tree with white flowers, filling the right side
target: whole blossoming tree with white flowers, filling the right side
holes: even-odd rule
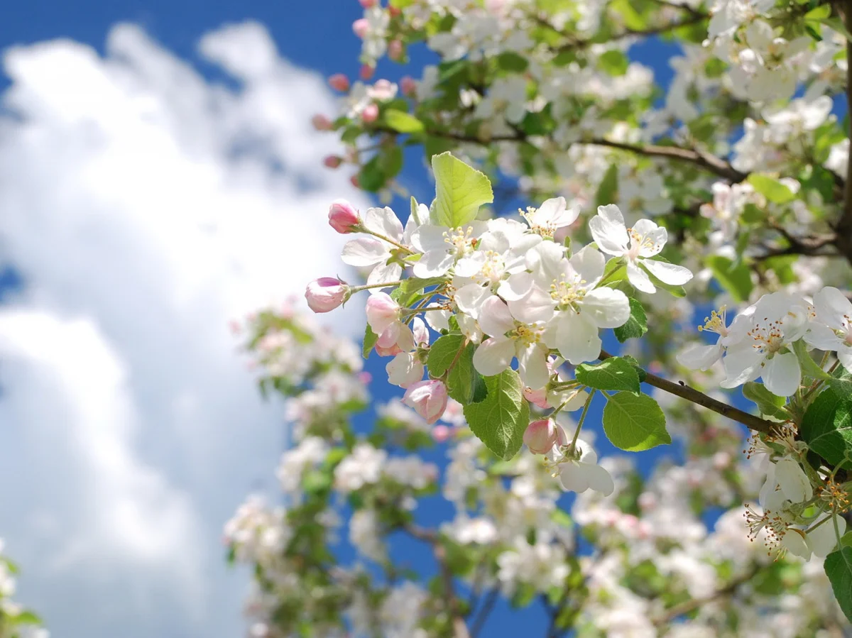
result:
[[[251,634],[472,638],[508,603],[546,636],[849,635],[852,5],[361,4],[362,79],[439,61],[333,76],[326,164],[390,202],[422,151],[435,198],[331,203],[365,283],[306,297],[363,297],[361,353],[290,306],[245,326],[293,434],[283,505],[227,526]]]

